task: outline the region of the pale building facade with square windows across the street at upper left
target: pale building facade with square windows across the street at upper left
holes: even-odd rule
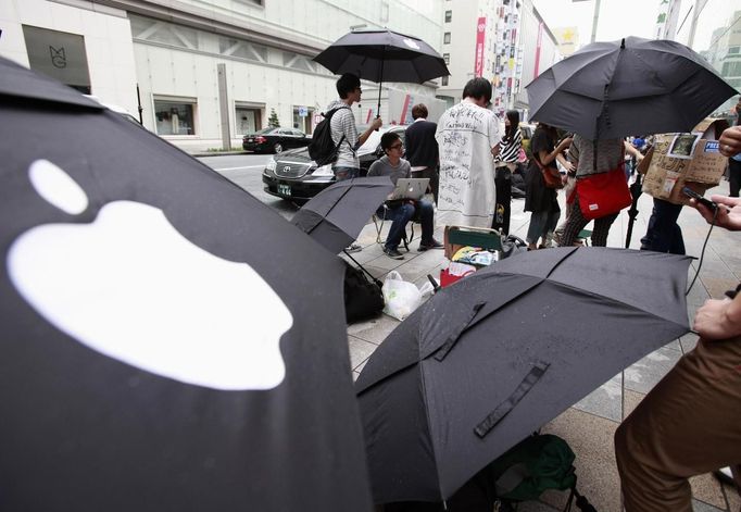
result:
[[[140,110],[145,127],[197,151],[224,142],[240,146],[241,136],[266,127],[273,112],[282,126],[311,133],[337,97],[337,77],[313,62],[314,55],[353,27],[388,27],[439,50],[442,3],[1,0],[0,55],[135,116]],[[388,84],[381,96],[434,100],[436,88],[436,83]],[[364,92],[359,122],[372,104],[376,113],[377,86],[364,84]],[[380,113],[391,122],[399,115],[388,103]]]

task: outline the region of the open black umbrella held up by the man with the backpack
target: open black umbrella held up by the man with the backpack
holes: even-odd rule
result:
[[[444,59],[428,43],[387,29],[346,34],[314,61],[337,75],[352,73],[378,83],[378,113],[384,80],[423,84],[450,75]]]

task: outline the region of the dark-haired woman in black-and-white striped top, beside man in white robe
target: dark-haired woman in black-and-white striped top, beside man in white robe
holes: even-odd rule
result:
[[[508,110],[504,118],[504,135],[499,142],[499,153],[494,159],[497,174],[497,209],[491,227],[510,234],[510,213],[512,201],[512,173],[517,168],[519,150],[523,148],[523,134],[519,130],[519,112]]]

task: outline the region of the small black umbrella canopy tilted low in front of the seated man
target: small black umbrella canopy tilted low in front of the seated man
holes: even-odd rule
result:
[[[388,176],[339,182],[304,204],[291,223],[337,254],[357,238],[392,191],[393,183]]]

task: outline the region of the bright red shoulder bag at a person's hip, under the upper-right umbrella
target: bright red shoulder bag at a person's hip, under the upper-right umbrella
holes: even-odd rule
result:
[[[591,174],[576,180],[581,214],[588,221],[617,213],[632,202],[625,164],[607,173]]]

